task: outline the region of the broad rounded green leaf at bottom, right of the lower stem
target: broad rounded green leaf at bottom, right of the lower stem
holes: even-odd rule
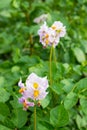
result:
[[[57,106],[50,111],[50,123],[54,127],[62,127],[68,124],[68,112],[63,105]]]

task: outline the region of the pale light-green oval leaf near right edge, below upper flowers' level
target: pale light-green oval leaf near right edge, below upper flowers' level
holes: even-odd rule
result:
[[[86,60],[85,54],[80,48],[78,48],[78,47],[74,48],[73,52],[79,63],[82,63]]]

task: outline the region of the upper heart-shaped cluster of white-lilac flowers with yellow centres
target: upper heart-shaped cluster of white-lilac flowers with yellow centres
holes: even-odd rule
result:
[[[40,27],[38,34],[40,42],[44,47],[56,47],[61,37],[66,34],[66,28],[60,21],[55,21],[51,27],[46,25],[46,22]]]

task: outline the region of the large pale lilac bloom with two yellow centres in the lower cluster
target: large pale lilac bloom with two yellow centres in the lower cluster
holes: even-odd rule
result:
[[[35,73],[32,73],[26,80],[26,90],[24,92],[24,96],[33,100],[42,100],[48,94],[48,92],[46,92],[47,88],[47,77],[41,78]]]

